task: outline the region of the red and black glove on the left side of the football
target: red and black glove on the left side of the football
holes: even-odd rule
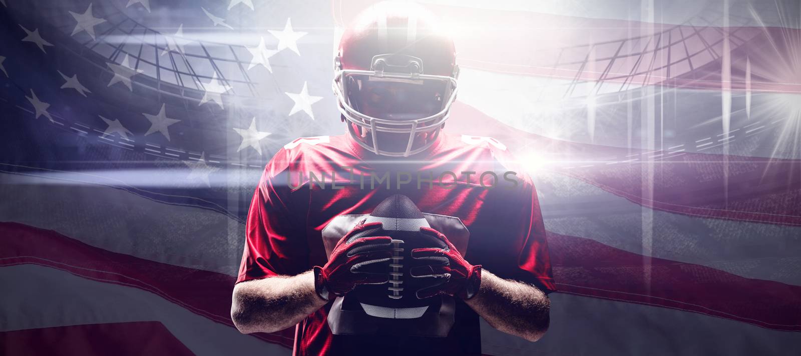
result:
[[[328,300],[329,294],[340,297],[356,285],[388,281],[392,238],[370,236],[380,229],[380,222],[364,224],[362,220],[336,243],[328,263],[314,267],[314,286],[320,297]]]

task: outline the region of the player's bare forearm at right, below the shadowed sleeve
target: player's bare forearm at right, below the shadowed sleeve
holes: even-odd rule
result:
[[[533,285],[509,281],[481,272],[481,288],[467,304],[490,326],[529,341],[539,340],[548,330],[550,300]]]

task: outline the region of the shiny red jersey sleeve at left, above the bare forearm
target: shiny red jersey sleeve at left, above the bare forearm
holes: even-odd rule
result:
[[[237,283],[308,269],[308,242],[304,224],[298,221],[305,214],[293,202],[288,172],[276,172],[275,160],[265,168],[253,193]]]

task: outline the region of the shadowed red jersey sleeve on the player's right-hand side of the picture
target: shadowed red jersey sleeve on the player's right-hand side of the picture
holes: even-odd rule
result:
[[[467,260],[498,277],[536,285],[545,293],[553,283],[548,241],[537,192],[529,179],[500,191],[491,201],[485,224],[471,232]],[[480,234],[481,236],[474,236]]]

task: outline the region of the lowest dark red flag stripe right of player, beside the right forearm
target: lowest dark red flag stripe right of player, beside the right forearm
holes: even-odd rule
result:
[[[581,237],[549,233],[548,245],[553,278],[562,293],[658,305],[769,329],[801,331],[801,286],[743,278],[662,258],[644,258]]]

